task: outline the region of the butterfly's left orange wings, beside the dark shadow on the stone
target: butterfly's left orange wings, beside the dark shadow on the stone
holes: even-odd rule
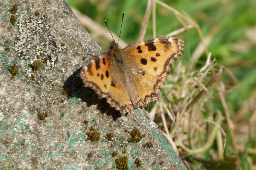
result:
[[[80,77],[84,86],[91,87],[100,98],[107,98],[111,107],[120,110],[121,113],[131,112],[134,107],[125,90],[113,58],[108,53],[102,53],[86,64]]]

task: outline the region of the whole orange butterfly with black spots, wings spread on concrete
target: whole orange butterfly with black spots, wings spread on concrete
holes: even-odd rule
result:
[[[177,37],[138,41],[124,49],[112,41],[108,52],[83,66],[80,78],[124,115],[159,100],[158,92],[183,49],[184,40]]]

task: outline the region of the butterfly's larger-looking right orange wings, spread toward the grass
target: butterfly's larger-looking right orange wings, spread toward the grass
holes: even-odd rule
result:
[[[183,48],[182,39],[166,37],[135,42],[122,50],[123,66],[130,78],[126,90],[134,108],[158,100],[173,61],[184,54]]]

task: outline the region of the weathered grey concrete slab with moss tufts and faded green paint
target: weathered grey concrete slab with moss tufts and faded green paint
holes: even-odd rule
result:
[[[101,51],[66,1],[0,6],[0,169],[116,169],[119,157],[130,169],[186,169],[146,111],[121,116],[83,87],[79,71]],[[145,137],[128,142],[135,127]]]

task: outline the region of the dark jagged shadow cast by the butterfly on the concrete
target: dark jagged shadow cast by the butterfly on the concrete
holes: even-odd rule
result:
[[[113,120],[116,121],[117,118],[121,117],[120,112],[110,107],[106,98],[99,99],[98,94],[96,94],[93,89],[84,87],[83,81],[79,76],[81,70],[82,67],[76,70],[76,72],[68,77],[63,85],[63,89],[67,92],[68,98],[80,98],[87,104],[87,107],[97,105],[97,109],[99,109],[102,114],[106,113],[107,115],[111,115]]]

